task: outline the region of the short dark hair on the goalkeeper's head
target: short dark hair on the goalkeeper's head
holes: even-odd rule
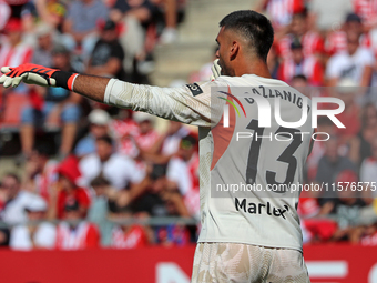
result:
[[[274,29],[269,20],[255,11],[241,10],[226,16],[220,27],[233,29],[249,40],[249,47],[264,61],[274,42]]]

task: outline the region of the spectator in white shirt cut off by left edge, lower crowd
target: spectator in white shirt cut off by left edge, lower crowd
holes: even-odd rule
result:
[[[7,224],[20,224],[28,220],[24,211],[27,203],[33,200],[34,195],[21,189],[21,181],[18,175],[8,173],[2,182],[2,190],[6,191],[6,205],[1,219]]]

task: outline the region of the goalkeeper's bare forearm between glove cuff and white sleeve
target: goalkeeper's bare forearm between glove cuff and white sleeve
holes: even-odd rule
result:
[[[73,91],[89,99],[103,102],[109,78],[80,74],[74,81]]]

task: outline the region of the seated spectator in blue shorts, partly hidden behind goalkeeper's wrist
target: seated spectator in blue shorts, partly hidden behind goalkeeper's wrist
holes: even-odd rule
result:
[[[71,71],[74,70],[70,65],[70,53],[63,46],[57,46],[52,55],[53,68]],[[73,145],[77,133],[78,121],[80,119],[80,101],[82,98],[73,92],[62,88],[44,89],[32,87],[31,102],[32,107],[28,107],[22,112],[21,125],[21,146],[24,158],[31,154],[34,143],[35,124],[43,124],[49,121],[50,124],[59,124],[59,120],[63,122],[62,141],[60,145],[60,159],[67,156]]]

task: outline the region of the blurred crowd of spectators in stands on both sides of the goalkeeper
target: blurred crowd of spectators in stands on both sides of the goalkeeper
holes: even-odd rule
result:
[[[177,39],[184,6],[177,0],[0,0],[0,65],[32,62],[145,83],[154,47]],[[345,129],[318,119],[317,132],[330,139],[314,143],[305,183],[336,190],[302,193],[304,242],[376,245],[377,0],[259,0],[252,9],[275,28],[267,59],[273,78],[307,97],[345,102],[337,115]],[[187,81],[208,80],[211,65]],[[77,250],[195,242],[197,225],[140,224],[153,216],[198,221],[195,130],[169,122],[160,131],[152,115],[59,88],[20,85],[0,93],[1,113],[10,97],[28,98],[14,158],[21,170],[4,174],[0,184],[0,218],[7,224],[0,228],[1,245]],[[40,138],[51,125],[61,134],[55,150]],[[347,183],[360,184],[359,190],[338,190]]]

